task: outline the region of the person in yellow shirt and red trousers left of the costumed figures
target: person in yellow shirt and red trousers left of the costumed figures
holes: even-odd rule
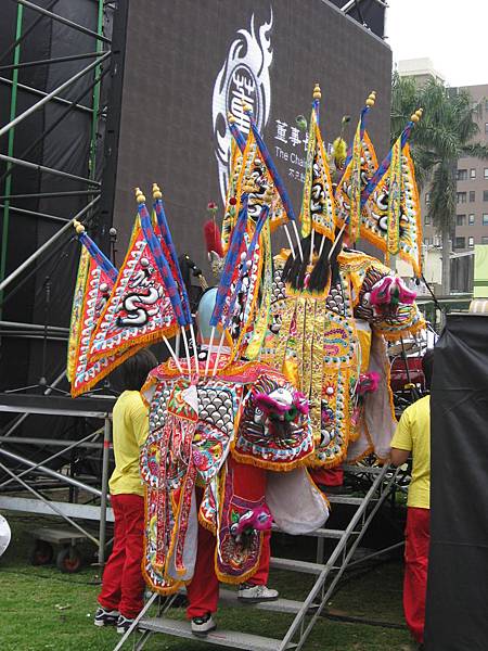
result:
[[[114,546],[103,572],[94,625],[116,624],[118,633],[125,633],[143,605],[144,488],[139,474],[139,448],[147,438],[149,420],[139,392],[156,366],[157,359],[147,349],[124,363],[126,391],[113,412],[115,470],[108,486],[115,518]]]

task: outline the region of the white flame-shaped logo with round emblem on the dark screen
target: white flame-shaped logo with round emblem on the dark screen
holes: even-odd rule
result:
[[[259,130],[262,130],[268,122],[271,105],[269,67],[273,58],[269,34],[272,24],[272,9],[270,9],[269,23],[264,23],[257,30],[253,14],[249,30],[237,31],[237,38],[229,48],[227,60],[215,81],[213,123],[222,199],[226,197],[229,180],[231,144],[227,114],[230,112],[235,116],[236,124],[244,136],[247,136],[249,130],[249,119],[242,110],[243,101],[253,107]]]

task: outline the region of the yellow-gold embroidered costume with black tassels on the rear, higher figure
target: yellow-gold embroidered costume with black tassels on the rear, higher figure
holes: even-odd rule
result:
[[[396,420],[385,341],[424,327],[414,293],[376,258],[316,237],[305,263],[275,256],[265,359],[310,400],[316,443],[308,463],[334,468],[375,452],[385,459]],[[321,256],[318,256],[322,250]]]

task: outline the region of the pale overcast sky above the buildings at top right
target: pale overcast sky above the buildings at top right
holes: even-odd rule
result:
[[[488,0],[388,0],[395,62],[428,56],[449,86],[488,84]]]

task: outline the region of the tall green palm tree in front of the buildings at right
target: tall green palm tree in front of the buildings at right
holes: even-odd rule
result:
[[[468,92],[429,79],[418,86],[413,78],[394,74],[391,86],[391,142],[412,112],[424,114],[411,136],[412,156],[420,188],[428,188],[428,216],[442,241],[442,294],[450,293],[450,235],[455,224],[458,159],[488,158],[488,148],[473,143],[478,132],[474,115],[479,107]]]

